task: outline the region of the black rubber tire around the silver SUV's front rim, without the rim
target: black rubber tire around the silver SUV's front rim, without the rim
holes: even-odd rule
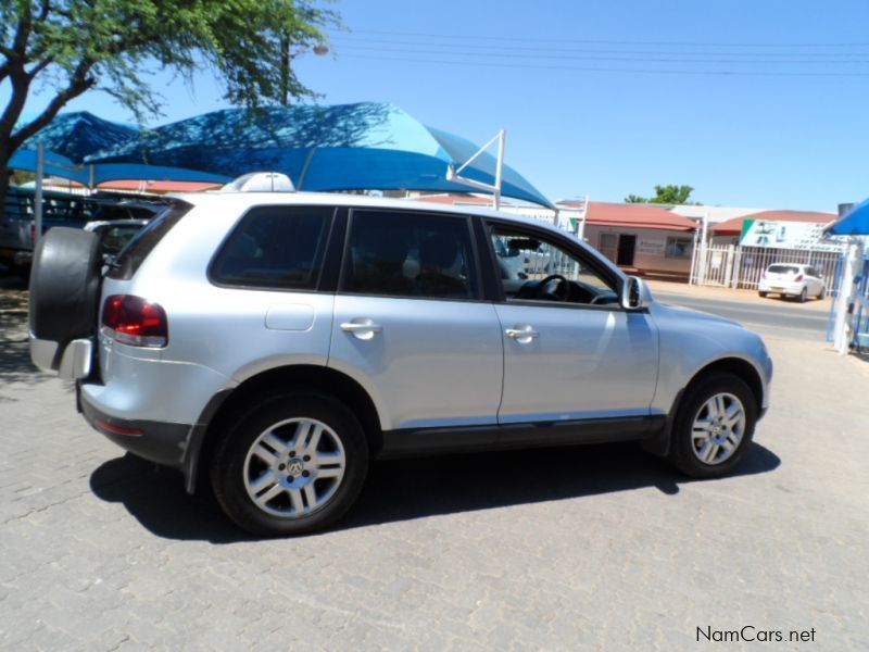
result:
[[[706,401],[720,393],[732,394],[740,400],[745,414],[745,427],[735,451],[720,463],[708,464],[700,460],[694,451],[692,426]],[[670,463],[694,478],[726,476],[739,465],[751,447],[756,423],[757,400],[741,378],[732,374],[713,374],[702,378],[689,388],[679,406],[672,430]]]

